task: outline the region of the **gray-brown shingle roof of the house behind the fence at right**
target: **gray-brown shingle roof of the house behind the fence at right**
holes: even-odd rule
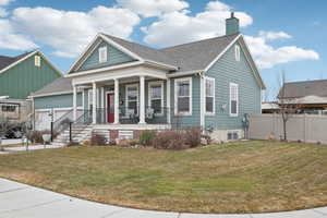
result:
[[[278,97],[281,97],[279,90]],[[302,81],[284,84],[284,98],[299,98],[305,96],[327,96],[327,80]]]

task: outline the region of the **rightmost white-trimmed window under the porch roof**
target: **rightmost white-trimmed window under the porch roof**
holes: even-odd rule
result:
[[[148,83],[148,105],[154,109],[156,114],[162,114],[164,107],[164,83],[150,82]]]

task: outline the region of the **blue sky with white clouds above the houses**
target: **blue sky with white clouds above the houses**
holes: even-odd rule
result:
[[[272,100],[288,82],[327,78],[326,0],[0,0],[0,55],[41,50],[66,72],[97,33],[153,48],[240,31]]]

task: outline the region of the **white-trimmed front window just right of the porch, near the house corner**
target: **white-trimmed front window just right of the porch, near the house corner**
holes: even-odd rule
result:
[[[177,78],[175,90],[175,114],[192,114],[192,77]]]

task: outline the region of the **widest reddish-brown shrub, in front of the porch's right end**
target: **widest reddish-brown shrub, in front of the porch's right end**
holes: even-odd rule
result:
[[[180,131],[166,131],[158,133],[153,140],[153,146],[158,149],[174,150],[187,148],[184,133]]]

